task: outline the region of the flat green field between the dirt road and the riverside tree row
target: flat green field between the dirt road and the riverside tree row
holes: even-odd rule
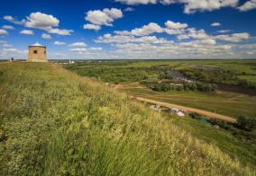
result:
[[[256,118],[256,97],[233,92],[192,92],[169,91],[154,92],[146,86],[123,84],[121,88],[134,96],[155,101],[179,104],[199,110],[208,110],[224,114],[236,119],[239,115]]]

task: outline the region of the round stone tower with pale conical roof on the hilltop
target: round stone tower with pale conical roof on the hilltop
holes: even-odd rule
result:
[[[27,62],[48,62],[46,56],[46,47],[38,42],[29,46],[29,56]]]

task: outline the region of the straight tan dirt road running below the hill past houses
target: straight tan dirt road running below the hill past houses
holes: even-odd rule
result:
[[[228,122],[231,122],[231,123],[236,122],[236,119],[233,119],[233,118],[230,118],[230,117],[227,117],[227,116],[224,116],[224,115],[220,115],[220,114],[215,114],[214,112],[209,112],[209,111],[206,111],[206,110],[197,110],[197,109],[194,109],[194,108],[188,108],[188,107],[185,107],[185,106],[179,106],[179,105],[176,105],[176,104],[170,104],[170,103],[166,103],[166,102],[152,101],[152,100],[143,99],[143,98],[140,98],[140,97],[136,97],[136,100],[143,101],[143,102],[149,102],[149,103],[152,103],[152,104],[159,104],[160,106],[169,107],[169,108],[178,108],[179,110],[187,110],[187,111],[190,111],[190,112],[197,112],[198,114],[202,114],[202,115],[205,115],[207,117],[212,117],[212,118],[215,117],[215,119],[222,119],[224,121],[228,121]]]

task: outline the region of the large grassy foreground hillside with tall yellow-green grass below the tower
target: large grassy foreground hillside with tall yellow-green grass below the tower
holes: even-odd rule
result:
[[[255,175],[252,166],[50,63],[0,64],[0,175]]]

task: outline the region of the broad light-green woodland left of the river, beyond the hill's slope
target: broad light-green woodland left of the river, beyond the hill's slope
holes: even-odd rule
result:
[[[64,66],[78,75],[88,77],[100,77],[105,82],[138,82],[149,77],[173,79],[169,75],[170,66],[151,66],[151,67],[120,67],[128,65],[128,62],[116,63],[78,63],[75,65]]]

